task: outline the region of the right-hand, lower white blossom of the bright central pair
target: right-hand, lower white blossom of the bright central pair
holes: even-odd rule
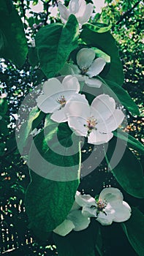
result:
[[[115,109],[115,100],[107,94],[96,97],[91,106],[84,95],[75,94],[65,108],[69,127],[76,135],[88,137],[88,143],[107,143],[124,120],[124,113]]]

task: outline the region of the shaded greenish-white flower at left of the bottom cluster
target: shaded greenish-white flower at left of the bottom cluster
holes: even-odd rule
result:
[[[90,222],[89,217],[83,216],[80,206],[78,206],[77,203],[74,203],[67,219],[58,225],[53,232],[57,233],[59,236],[67,236],[72,230],[80,231],[86,229]]]

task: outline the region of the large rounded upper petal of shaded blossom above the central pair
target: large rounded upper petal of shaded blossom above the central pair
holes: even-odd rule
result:
[[[82,48],[77,53],[77,65],[80,69],[88,68],[91,66],[92,61],[95,58],[95,52],[93,49]]]

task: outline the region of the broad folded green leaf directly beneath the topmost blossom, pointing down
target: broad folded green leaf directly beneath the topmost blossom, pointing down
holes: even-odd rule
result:
[[[64,66],[69,54],[77,48],[79,26],[75,15],[70,15],[67,23],[53,23],[39,29],[36,36],[38,57],[42,71],[53,78]]]

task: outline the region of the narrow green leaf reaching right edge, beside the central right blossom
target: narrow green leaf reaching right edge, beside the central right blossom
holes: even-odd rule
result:
[[[133,148],[140,152],[140,154],[144,154],[144,146],[142,143],[140,143],[139,140],[136,140],[131,135],[121,131],[121,129],[117,129],[116,131],[113,132],[113,134],[115,135],[115,137],[124,140],[124,143],[127,143],[127,146],[129,146],[129,148]]]

